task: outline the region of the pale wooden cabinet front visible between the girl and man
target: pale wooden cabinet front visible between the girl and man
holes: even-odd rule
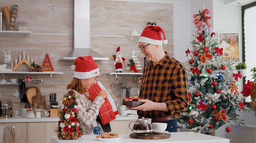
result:
[[[130,128],[133,127],[135,122],[132,122],[130,124],[130,128],[129,128],[128,125],[131,121],[132,120],[111,121],[110,122],[111,132],[119,133],[119,134],[130,134],[130,133],[132,133],[132,130],[130,130]]]

